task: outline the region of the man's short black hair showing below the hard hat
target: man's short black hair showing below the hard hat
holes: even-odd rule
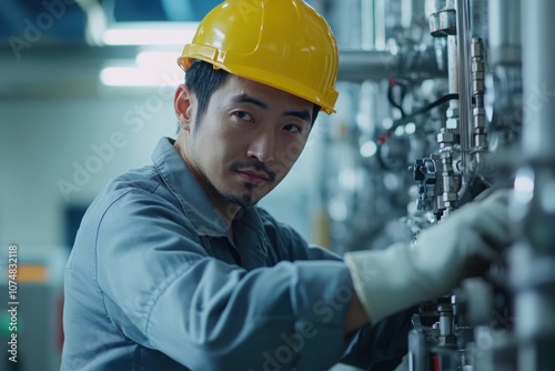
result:
[[[196,112],[196,122],[201,122],[206,112],[210,97],[222,83],[225,82],[230,73],[223,69],[214,69],[212,64],[195,60],[185,73],[185,86],[196,96],[199,103]],[[312,123],[316,120],[321,107],[314,104],[312,110]]]

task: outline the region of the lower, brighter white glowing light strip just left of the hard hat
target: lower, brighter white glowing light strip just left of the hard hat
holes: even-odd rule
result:
[[[176,87],[183,82],[183,74],[141,67],[107,67],[100,71],[100,82],[108,87]]]

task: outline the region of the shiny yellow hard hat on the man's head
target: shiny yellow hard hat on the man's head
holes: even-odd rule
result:
[[[335,112],[335,37],[302,0],[222,2],[201,21],[178,62],[186,71],[195,59]]]

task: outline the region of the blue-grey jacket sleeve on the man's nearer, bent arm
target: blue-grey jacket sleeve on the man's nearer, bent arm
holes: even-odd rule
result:
[[[107,317],[192,370],[325,370],[349,345],[341,261],[245,271],[209,257],[181,210],[140,190],[108,208],[95,245]]]

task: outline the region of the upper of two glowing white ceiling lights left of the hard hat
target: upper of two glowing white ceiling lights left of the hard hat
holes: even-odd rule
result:
[[[181,46],[193,40],[199,22],[120,22],[107,29],[107,46]]]

